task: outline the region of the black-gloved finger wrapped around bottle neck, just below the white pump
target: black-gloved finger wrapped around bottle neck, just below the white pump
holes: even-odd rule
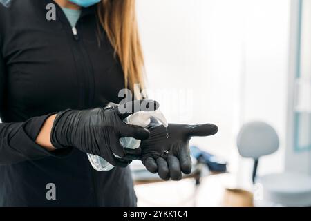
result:
[[[133,137],[138,140],[146,140],[150,136],[150,131],[140,126],[122,124],[119,128],[121,137]]]

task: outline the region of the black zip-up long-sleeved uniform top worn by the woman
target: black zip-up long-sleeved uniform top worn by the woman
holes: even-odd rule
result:
[[[10,7],[3,2],[0,206],[135,206],[129,169],[97,172],[86,153],[50,153],[34,142],[52,113],[120,100],[122,67],[104,30],[98,35],[96,6],[82,10],[74,36],[56,4],[56,20],[46,19],[53,0],[13,0]],[[56,200],[46,198],[51,183]]]

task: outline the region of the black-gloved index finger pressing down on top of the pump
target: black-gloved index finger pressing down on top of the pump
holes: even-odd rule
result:
[[[139,111],[156,111],[159,106],[159,103],[156,101],[142,99],[120,104],[115,110],[121,119],[125,119],[126,117],[129,117],[129,115]]]

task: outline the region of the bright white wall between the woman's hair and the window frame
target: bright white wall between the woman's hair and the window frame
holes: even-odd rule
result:
[[[138,0],[149,88],[156,91],[151,97],[170,122],[217,124],[218,135],[193,143],[229,160],[240,180],[249,179],[250,169],[236,151],[241,122],[261,119],[276,128],[281,150],[263,160],[259,173],[283,169],[289,5]]]

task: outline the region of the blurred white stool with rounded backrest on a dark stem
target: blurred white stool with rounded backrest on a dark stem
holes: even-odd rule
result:
[[[311,177],[296,173],[275,173],[256,178],[259,158],[279,148],[279,136],[265,122],[245,124],[237,140],[242,157],[254,159],[252,181],[263,187],[263,200],[282,206],[311,206]]]

